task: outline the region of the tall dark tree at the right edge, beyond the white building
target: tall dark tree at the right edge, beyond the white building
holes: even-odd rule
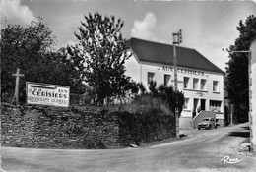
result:
[[[231,51],[249,50],[256,36],[256,17],[247,17],[245,24],[240,21],[237,30],[239,37],[230,46],[229,61],[226,68],[226,89],[230,102],[234,105],[234,120],[238,123],[248,121],[248,57],[249,53],[231,53]]]

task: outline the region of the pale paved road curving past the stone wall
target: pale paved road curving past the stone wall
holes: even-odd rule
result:
[[[17,172],[251,171],[256,156],[239,152],[248,124],[214,130],[181,131],[183,140],[145,148],[51,150],[2,147],[2,168]],[[237,163],[226,163],[229,156]]]

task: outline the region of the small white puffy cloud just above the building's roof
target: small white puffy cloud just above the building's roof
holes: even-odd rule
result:
[[[143,21],[136,20],[133,23],[133,28],[131,29],[131,36],[142,39],[153,39],[155,36],[153,29],[155,29],[156,24],[156,16],[153,13],[149,12],[146,14]]]

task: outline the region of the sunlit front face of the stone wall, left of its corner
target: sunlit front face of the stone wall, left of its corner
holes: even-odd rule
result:
[[[1,106],[1,144],[21,147],[119,147],[118,123],[96,108]]]

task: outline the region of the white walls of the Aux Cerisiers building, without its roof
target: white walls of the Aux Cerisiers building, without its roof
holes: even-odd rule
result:
[[[126,61],[126,75],[148,87],[151,80],[174,86],[173,66],[140,61],[135,53]],[[178,59],[177,59],[178,64]],[[224,74],[180,67],[177,65],[178,90],[184,92],[185,105],[182,118],[192,119],[193,110],[215,111],[217,118],[224,120]]]

